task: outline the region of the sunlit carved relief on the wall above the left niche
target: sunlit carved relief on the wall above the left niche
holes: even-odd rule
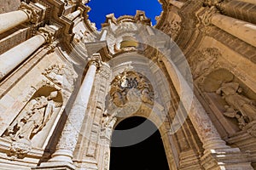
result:
[[[49,78],[51,82],[71,92],[78,77],[77,73],[69,65],[51,65],[44,70],[43,75]]]

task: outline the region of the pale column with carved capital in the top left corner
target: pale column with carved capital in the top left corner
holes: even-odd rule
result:
[[[31,6],[21,3],[20,10],[0,14],[0,34],[28,21],[37,22],[38,14]]]

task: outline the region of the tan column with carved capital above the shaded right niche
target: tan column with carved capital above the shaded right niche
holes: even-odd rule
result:
[[[201,15],[201,21],[205,26],[217,26],[221,30],[256,47],[256,37],[254,36],[256,35],[256,25],[218,14],[218,10],[214,7],[209,8]]]

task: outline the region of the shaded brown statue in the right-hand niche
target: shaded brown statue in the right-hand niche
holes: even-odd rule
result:
[[[216,91],[217,94],[220,94],[224,98],[231,109],[237,111],[236,114],[233,113],[233,117],[241,114],[239,118],[244,119],[244,122],[256,121],[255,101],[243,96],[241,92],[242,89],[237,82],[224,82]],[[232,114],[225,113],[224,115],[231,116]],[[239,122],[242,123],[242,121]]]

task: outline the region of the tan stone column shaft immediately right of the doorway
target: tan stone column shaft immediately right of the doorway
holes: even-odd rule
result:
[[[172,79],[172,83],[177,90],[177,94],[180,96],[180,100],[184,105],[185,110],[189,113],[189,119],[201,139],[203,148],[205,150],[229,148],[219,136],[217,129],[212,124],[209,116],[207,116],[207,112],[195,97],[189,84],[177,70],[177,67],[172,61],[165,57],[162,58],[162,61],[166,66],[166,70]]]

